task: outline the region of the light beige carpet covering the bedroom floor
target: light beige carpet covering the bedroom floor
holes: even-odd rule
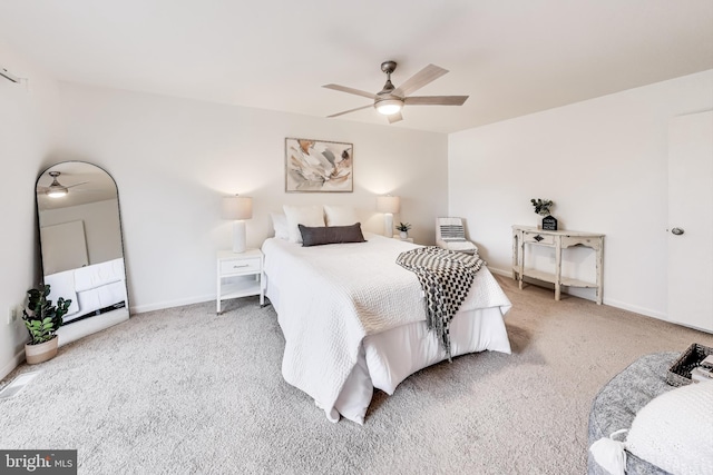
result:
[[[482,353],[377,392],[331,424],[280,374],[256,298],[143,314],[60,348],[0,402],[0,448],[77,448],[80,474],[583,474],[597,390],[648,353],[713,336],[498,278],[512,355]]]

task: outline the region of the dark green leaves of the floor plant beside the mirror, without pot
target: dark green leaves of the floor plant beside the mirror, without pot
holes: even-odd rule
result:
[[[39,288],[32,288],[27,291],[28,304],[22,310],[22,319],[25,326],[30,333],[30,345],[39,345],[49,342],[57,336],[57,330],[62,325],[62,317],[69,310],[71,299],[65,300],[62,297],[57,299],[57,306],[52,305],[47,296],[50,293],[50,286],[39,285]]]

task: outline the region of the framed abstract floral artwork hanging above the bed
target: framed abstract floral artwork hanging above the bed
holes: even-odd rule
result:
[[[314,139],[285,139],[286,192],[352,192],[354,146]]]

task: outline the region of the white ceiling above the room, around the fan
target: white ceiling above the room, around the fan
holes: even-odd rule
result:
[[[433,63],[414,95],[470,99],[389,127],[453,132],[712,69],[713,1],[0,0],[0,40],[61,80],[320,117],[369,103],[322,85]]]

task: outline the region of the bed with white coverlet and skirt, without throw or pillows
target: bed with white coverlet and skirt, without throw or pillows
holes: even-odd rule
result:
[[[364,234],[365,243],[303,247],[268,238],[265,295],[285,337],[282,374],[326,417],[363,424],[373,389],[391,395],[409,375],[447,359],[426,328],[416,275],[398,264],[417,245]],[[451,323],[451,356],[510,353],[511,305],[486,266]]]

